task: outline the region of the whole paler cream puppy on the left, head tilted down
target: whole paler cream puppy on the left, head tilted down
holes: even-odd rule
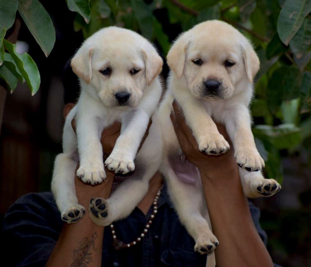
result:
[[[161,57],[145,38],[118,27],[94,33],[71,60],[80,80],[81,95],[66,118],[63,153],[55,159],[51,183],[61,218],[66,223],[79,221],[85,213],[75,192],[77,161],[80,167],[76,175],[83,182],[94,185],[105,180],[100,137],[103,129],[115,121],[122,124],[121,134],[105,165],[123,174],[134,171],[135,167],[136,171],[107,200],[91,200],[92,221],[106,226],[128,216],[148,191],[149,180],[158,170],[162,154],[156,115],[152,117],[148,137],[136,153],[161,97],[158,74],[162,64]],[[76,135],[71,127],[74,117]]]

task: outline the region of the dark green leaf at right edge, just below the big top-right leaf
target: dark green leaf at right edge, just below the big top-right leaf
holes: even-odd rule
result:
[[[289,42],[289,47],[292,49],[295,56],[300,59],[307,52],[311,44],[311,18],[306,17],[299,31]]]

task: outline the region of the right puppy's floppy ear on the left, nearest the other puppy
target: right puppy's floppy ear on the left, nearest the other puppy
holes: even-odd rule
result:
[[[170,51],[168,51],[166,57],[167,64],[176,73],[177,78],[182,76],[188,46],[189,41],[186,39],[185,34],[183,34],[176,39]]]

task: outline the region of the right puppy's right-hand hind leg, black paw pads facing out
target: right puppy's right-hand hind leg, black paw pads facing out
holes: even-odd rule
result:
[[[274,179],[265,179],[261,173],[239,168],[243,191],[248,198],[271,197],[281,190]]]

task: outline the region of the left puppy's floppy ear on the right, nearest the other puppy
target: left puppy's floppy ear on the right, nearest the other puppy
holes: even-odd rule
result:
[[[163,60],[150,43],[141,49],[141,53],[145,61],[147,85],[150,85],[161,72]]]

